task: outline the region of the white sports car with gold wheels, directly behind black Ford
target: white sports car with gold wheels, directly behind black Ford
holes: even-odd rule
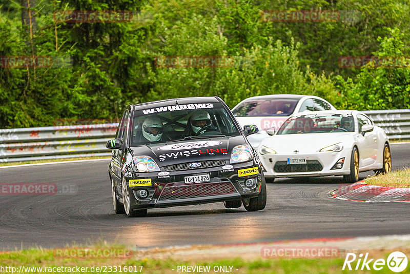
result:
[[[343,175],[351,183],[361,171],[392,169],[386,133],[356,110],[294,114],[257,152],[267,178]]]

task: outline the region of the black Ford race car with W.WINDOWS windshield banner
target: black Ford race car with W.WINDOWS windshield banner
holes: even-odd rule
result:
[[[256,132],[216,96],[130,105],[107,142],[115,213],[213,202],[262,210],[265,179],[246,138]]]

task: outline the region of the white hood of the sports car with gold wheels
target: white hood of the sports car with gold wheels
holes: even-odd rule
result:
[[[309,133],[274,135],[262,141],[261,146],[272,148],[278,154],[313,153],[320,149],[342,142],[350,146],[354,132]]]

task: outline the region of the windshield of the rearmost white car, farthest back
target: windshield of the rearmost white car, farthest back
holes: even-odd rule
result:
[[[235,116],[289,116],[299,99],[257,99],[240,103],[234,110]]]

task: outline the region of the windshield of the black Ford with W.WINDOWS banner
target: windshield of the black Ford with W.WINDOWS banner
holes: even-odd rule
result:
[[[138,110],[131,123],[131,146],[240,134],[221,103]]]

